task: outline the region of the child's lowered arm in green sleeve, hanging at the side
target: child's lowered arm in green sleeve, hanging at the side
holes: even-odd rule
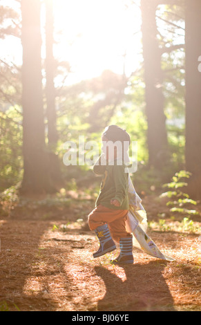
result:
[[[126,198],[128,193],[128,174],[124,172],[124,166],[114,166],[114,180],[116,193],[115,197],[112,198],[111,204],[116,207],[120,207]],[[118,204],[119,203],[119,204]]]

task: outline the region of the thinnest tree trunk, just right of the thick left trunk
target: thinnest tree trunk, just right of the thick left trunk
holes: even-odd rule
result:
[[[55,108],[55,59],[53,55],[54,44],[54,17],[53,1],[46,0],[46,114],[48,118],[48,155],[50,160],[50,176],[52,183],[57,187],[62,185],[59,158],[57,149],[57,114]]]

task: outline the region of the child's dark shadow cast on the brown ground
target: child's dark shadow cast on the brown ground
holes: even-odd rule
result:
[[[113,270],[95,266],[97,276],[106,286],[106,294],[98,301],[97,310],[173,311],[173,297],[162,275],[167,263],[157,260],[115,266]]]

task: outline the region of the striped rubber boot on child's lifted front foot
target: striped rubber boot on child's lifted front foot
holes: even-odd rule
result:
[[[115,242],[113,241],[111,237],[110,230],[108,228],[108,225],[100,225],[95,229],[95,233],[97,235],[97,238],[99,239],[99,250],[93,254],[93,257],[99,257],[102,256],[108,252],[112,252],[116,249]]]

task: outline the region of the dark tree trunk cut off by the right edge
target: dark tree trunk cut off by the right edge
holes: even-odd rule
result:
[[[189,194],[201,197],[201,1],[186,0],[186,170]]]

